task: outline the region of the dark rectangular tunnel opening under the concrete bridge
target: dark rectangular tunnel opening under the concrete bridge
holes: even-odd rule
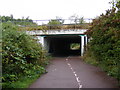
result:
[[[48,53],[53,56],[81,55],[79,35],[48,35],[44,37],[44,42]]]

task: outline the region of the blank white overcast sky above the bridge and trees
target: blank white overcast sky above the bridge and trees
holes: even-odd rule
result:
[[[95,18],[110,9],[112,0],[0,0],[0,15],[14,18],[29,16],[33,20],[68,19],[73,14]]]

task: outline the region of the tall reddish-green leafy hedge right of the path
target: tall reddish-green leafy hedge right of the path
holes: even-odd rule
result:
[[[120,1],[92,22],[88,51],[109,75],[120,80]]]

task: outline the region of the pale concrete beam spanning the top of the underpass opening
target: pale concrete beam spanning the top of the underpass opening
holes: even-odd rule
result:
[[[26,31],[29,35],[54,35],[54,34],[84,34],[87,29],[63,29],[63,30],[33,30]]]

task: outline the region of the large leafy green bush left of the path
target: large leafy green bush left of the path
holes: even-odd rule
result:
[[[2,24],[2,80],[15,82],[22,76],[32,77],[45,72],[45,51],[37,40],[11,22]]]

